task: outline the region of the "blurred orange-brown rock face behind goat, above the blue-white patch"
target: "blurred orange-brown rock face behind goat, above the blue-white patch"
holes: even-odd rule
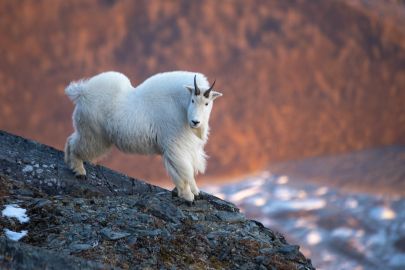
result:
[[[224,93],[208,176],[405,143],[398,1],[2,1],[0,128],[63,148],[71,80],[195,70]],[[156,157],[105,164],[158,182]]]

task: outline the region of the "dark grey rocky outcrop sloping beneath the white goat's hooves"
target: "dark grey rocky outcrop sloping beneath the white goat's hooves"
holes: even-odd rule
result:
[[[86,164],[76,179],[51,147],[0,132],[0,204],[29,222],[0,219],[0,268],[313,269],[299,246],[204,193],[170,191]],[[27,230],[11,242],[4,229]]]

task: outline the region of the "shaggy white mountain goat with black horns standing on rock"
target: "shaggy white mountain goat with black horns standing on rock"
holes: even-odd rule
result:
[[[194,80],[194,86],[192,84]],[[199,195],[197,173],[204,173],[208,120],[222,96],[200,73],[156,74],[134,88],[118,72],[71,82],[65,89],[76,104],[75,132],[67,138],[65,162],[85,176],[84,160],[94,160],[113,145],[126,153],[159,154],[179,197]]]

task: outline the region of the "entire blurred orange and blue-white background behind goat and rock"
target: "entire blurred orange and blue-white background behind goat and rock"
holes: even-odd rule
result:
[[[320,269],[404,269],[404,26],[400,0],[1,1],[0,129],[63,149],[70,81],[205,73],[201,186]],[[101,164],[172,187],[159,157]]]

